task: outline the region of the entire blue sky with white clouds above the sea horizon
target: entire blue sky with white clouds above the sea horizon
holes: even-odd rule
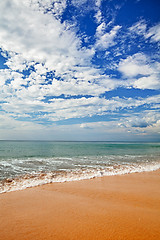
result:
[[[0,1],[0,139],[160,141],[159,0]]]

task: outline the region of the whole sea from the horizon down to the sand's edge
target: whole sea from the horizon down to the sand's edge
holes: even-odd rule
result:
[[[0,141],[0,193],[159,168],[160,143]]]

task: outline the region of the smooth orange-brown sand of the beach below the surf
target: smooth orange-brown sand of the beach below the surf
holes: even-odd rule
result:
[[[160,171],[0,194],[2,240],[158,240]]]

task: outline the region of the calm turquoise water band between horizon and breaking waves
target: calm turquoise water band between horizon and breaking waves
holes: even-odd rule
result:
[[[160,143],[0,141],[0,159],[160,154]]]

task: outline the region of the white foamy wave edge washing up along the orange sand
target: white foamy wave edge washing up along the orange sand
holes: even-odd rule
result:
[[[138,172],[149,172],[160,169],[160,162],[150,164],[132,164],[108,166],[104,169],[79,169],[72,171],[59,171],[25,175],[21,178],[8,179],[0,183],[0,193],[23,190],[43,184],[54,182],[79,181],[102,176],[122,175]]]

